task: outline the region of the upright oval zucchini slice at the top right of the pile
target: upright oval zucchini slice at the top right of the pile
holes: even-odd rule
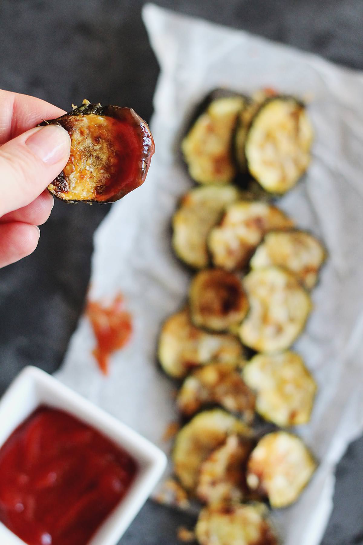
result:
[[[304,105],[292,96],[266,100],[245,139],[250,174],[264,190],[285,193],[310,162],[313,129]]]

